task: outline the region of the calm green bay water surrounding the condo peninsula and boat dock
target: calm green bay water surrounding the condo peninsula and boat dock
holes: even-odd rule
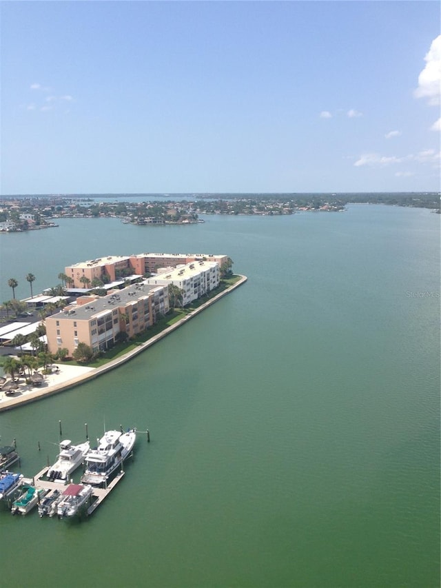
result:
[[[439,215],[206,219],[0,235],[3,300],[105,254],[229,254],[249,278],[112,374],[0,414],[27,476],[59,420],[151,433],[89,520],[0,512],[2,585],[438,587]]]

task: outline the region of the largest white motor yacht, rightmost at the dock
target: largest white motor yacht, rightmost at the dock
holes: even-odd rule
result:
[[[127,432],[107,431],[98,440],[98,447],[85,456],[85,472],[81,483],[93,486],[107,485],[107,480],[130,456],[136,440],[136,429]]]

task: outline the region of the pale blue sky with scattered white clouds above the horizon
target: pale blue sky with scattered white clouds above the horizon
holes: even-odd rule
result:
[[[438,1],[1,1],[6,194],[440,191]]]

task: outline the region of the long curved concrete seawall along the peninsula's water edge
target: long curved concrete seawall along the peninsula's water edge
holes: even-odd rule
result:
[[[238,274],[238,275],[240,275],[240,274]],[[120,356],[119,358],[116,358],[116,359],[113,359],[112,361],[109,361],[108,363],[106,363],[105,365],[103,365],[101,367],[92,368],[89,372],[86,372],[84,374],[76,376],[75,378],[72,378],[68,381],[64,381],[63,383],[55,384],[55,385],[49,386],[45,389],[36,389],[35,391],[27,392],[25,395],[21,396],[20,398],[8,398],[7,400],[3,400],[0,403],[0,412],[6,411],[6,410],[11,410],[13,408],[17,408],[19,406],[29,404],[31,402],[41,400],[41,398],[46,398],[47,396],[52,396],[53,394],[57,394],[58,392],[63,392],[64,390],[68,390],[70,388],[73,388],[74,386],[77,386],[77,385],[82,384],[82,383],[89,381],[89,380],[93,380],[94,378],[98,378],[102,374],[106,374],[107,372],[110,372],[111,369],[115,369],[116,367],[119,367],[123,363],[130,361],[130,359],[132,359],[133,357],[142,353],[143,351],[145,351],[145,349],[147,349],[151,345],[154,345],[155,343],[160,341],[162,338],[164,338],[165,336],[172,333],[174,330],[181,327],[184,323],[187,323],[187,321],[189,321],[191,318],[196,316],[196,314],[201,313],[207,307],[211,306],[212,304],[214,304],[215,302],[220,300],[220,298],[223,298],[223,296],[226,296],[227,294],[229,294],[230,292],[235,290],[237,287],[239,287],[240,285],[242,285],[246,281],[247,281],[247,277],[240,275],[240,280],[237,281],[234,285],[227,288],[227,290],[220,292],[220,294],[217,294],[216,296],[214,296],[214,298],[210,298],[209,301],[205,302],[204,304],[202,304],[201,306],[199,306],[195,310],[192,310],[192,312],[189,312],[189,314],[187,314],[186,316],[181,318],[181,320],[176,321],[176,323],[174,323],[173,325],[170,325],[170,327],[167,327],[167,329],[164,329],[163,331],[161,331],[161,333],[158,333],[154,337],[150,338],[148,341],[145,341],[145,343],[140,343],[139,346],[136,347],[136,349],[132,349],[132,351],[127,352],[126,354]]]

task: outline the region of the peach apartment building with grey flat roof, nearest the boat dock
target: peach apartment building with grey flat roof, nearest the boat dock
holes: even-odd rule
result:
[[[72,356],[78,344],[94,352],[105,351],[119,334],[132,337],[144,332],[169,310],[167,285],[135,284],[107,296],[82,296],[75,305],[46,318],[48,351],[68,349]]]

